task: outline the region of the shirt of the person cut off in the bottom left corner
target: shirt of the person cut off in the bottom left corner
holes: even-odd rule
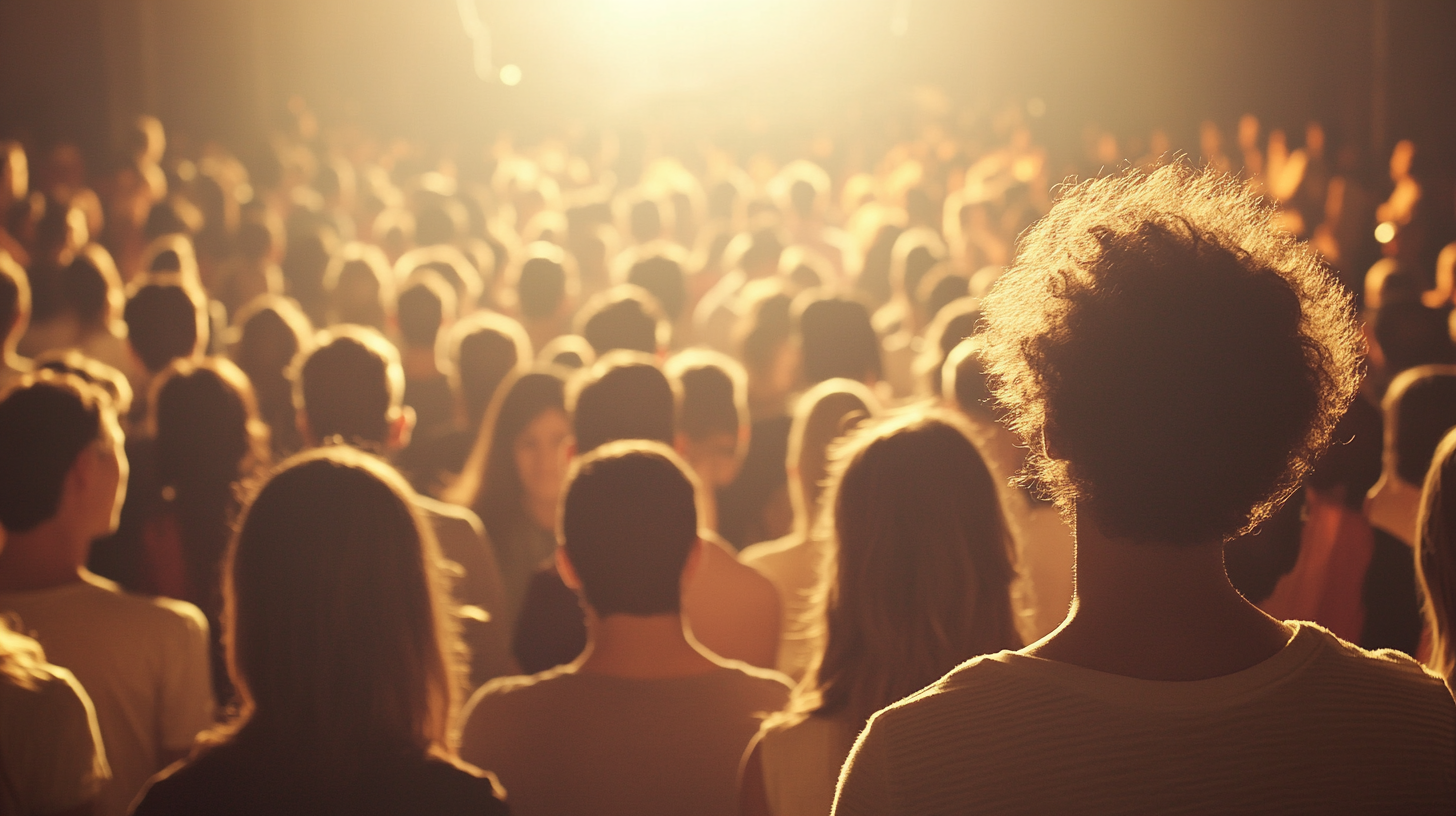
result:
[[[70,810],[111,778],[86,691],[50,663],[9,662],[0,672],[0,813]]]

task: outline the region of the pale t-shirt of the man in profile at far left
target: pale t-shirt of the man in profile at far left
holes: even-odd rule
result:
[[[45,659],[76,675],[96,707],[112,780],[99,816],[121,816],[163,752],[186,750],[213,724],[207,618],[191,603],[121,592],[98,576],[35,592],[0,593]]]

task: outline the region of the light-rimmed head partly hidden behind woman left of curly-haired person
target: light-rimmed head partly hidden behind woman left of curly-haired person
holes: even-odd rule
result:
[[[828,453],[836,440],[879,414],[879,401],[863,383],[843,377],[824,380],[804,392],[789,425],[789,503],[801,533],[818,516],[828,478]]]

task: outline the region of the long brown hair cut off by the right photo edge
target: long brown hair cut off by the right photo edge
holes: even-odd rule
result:
[[[1431,635],[1427,666],[1443,678],[1456,673],[1456,430],[1436,447],[1415,519],[1415,584],[1421,590],[1425,629]]]

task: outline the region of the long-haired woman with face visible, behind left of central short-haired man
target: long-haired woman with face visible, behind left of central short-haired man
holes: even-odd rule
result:
[[[480,437],[447,498],[475,510],[495,546],[515,631],[526,587],[556,552],[556,507],[571,455],[566,382],[553,369],[511,374],[486,411]]]

